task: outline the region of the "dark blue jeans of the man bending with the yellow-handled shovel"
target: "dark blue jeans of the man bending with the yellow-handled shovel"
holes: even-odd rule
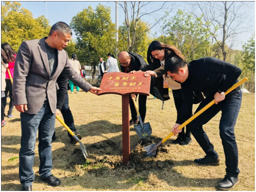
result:
[[[202,109],[213,99],[213,97],[205,98],[205,100],[203,100],[198,106],[196,112]],[[241,107],[241,101],[241,90],[230,93],[226,95],[226,98],[223,101],[218,104],[214,104],[187,125],[190,127],[191,133],[198,144],[203,148],[206,155],[211,158],[216,158],[218,157],[218,154],[214,151],[213,144],[204,132],[203,125],[213,118],[218,112],[222,111],[219,129],[226,158],[226,173],[233,177],[237,177],[240,173],[238,168],[238,152],[234,135],[234,126]]]

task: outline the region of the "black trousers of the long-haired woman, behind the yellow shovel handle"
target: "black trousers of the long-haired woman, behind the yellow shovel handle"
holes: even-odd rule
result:
[[[177,116],[179,116],[181,114],[181,106],[182,106],[182,102],[185,99],[185,95],[181,91],[181,89],[172,90],[172,95],[174,99],[175,108],[177,110]],[[188,120],[191,116],[192,116],[192,110],[190,112],[190,116],[187,117],[186,120]],[[184,132],[185,132],[185,127],[182,129],[182,132],[179,134],[184,134]],[[186,134],[190,134],[190,129],[188,126],[186,126]]]

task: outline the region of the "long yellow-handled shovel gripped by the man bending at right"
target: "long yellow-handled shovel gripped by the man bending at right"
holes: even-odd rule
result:
[[[231,91],[233,91],[235,88],[241,86],[241,84],[243,84],[245,81],[247,81],[248,78],[243,78],[241,81],[235,83],[231,88],[229,88],[225,95],[227,95],[228,93],[230,93]],[[184,123],[182,123],[181,125],[178,126],[178,129],[181,130],[183,127],[185,127],[187,124],[189,124],[191,121],[193,121],[196,117],[198,117],[200,114],[202,114],[203,112],[205,112],[208,108],[210,108],[210,106],[212,106],[215,103],[215,100],[213,99],[211,102],[209,102],[206,106],[204,106],[204,108],[202,108],[201,110],[199,110],[196,114],[194,114],[192,117],[190,117],[187,121],[185,121]],[[147,154],[145,154],[145,157],[152,157],[156,155],[156,148],[161,145],[162,143],[166,142],[167,139],[169,139],[170,137],[173,136],[173,132],[170,133],[168,136],[164,137],[161,141],[159,141],[159,143],[155,144],[151,144],[148,146],[144,147],[144,150],[147,151]]]

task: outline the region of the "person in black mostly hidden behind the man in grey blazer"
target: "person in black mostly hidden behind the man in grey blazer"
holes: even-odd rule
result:
[[[56,82],[58,83],[58,87],[59,87],[59,90],[57,91],[56,115],[59,115],[60,111],[61,111],[66,125],[79,139],[82,139],[81,135],[76,133],[74,118],[69,109],[68,93],[67,93],[68,78],[63,73],[61,73]],[[71,144],[77,143],[77,141],[70,135],[70,133],[68,133],[68,137],[70,138]],[[56,134],[54,131],[53,136],[52,136],[52,141],[54,141],[55,139],[56,139]]]

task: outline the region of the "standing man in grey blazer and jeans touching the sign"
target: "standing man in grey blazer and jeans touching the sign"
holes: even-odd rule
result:
[[[56,80],[63,72],[85,92],[98,94],[91,84],[72,68],[63,50],[72,35],[70,27],[58,22],[48,37],[22,42],[16,56],[13,76],[13,97],[21,112],[20,181],[22,190],[32,190],[36,133],[39,130],[39,174],[51,186],[61,181],[51,174],[51,138],[55,128]]]

